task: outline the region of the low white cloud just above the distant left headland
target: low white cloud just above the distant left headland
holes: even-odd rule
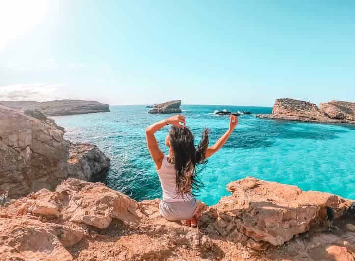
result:
[[[35,100],[38,102],[63,99],[58,84],[13,84],[0,86],[0,101]]]

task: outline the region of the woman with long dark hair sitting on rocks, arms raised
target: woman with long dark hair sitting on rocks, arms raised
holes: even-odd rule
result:
[[[232,115],[229,129],[211,147],[208,147],[209,130],[205,129],[197,148],[194,145],[194,136],[185,126],[185,117],[182,115],[166,118],[146,128],[148,149],[163,190],[159,210],[165,219],[184,220],[183,223],[187,226],[197,226],[197,201],[194,196],[203,183],[197,177],[196,165],[206,163],[206,159],[225,144],[237,123],[238,118]],[[172,126],[165,138],[169,154],[165,156],[159,149],[154,133],[169,124]]]

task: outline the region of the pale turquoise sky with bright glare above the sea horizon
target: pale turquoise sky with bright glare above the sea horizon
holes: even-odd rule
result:
[[[0,100],[355,102],[354,0],[0,0]]]

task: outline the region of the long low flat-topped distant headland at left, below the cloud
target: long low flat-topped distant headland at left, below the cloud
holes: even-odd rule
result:
[[[1,101],[1,103],[19,110],[39,110],[46,116],[109,112],[109,104],[96,101],[54,100],[42,103],[36,101]]]

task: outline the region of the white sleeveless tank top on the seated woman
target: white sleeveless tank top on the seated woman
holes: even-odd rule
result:
[[[188,201],[194,199],[190,194],[178,195],[176,193],[176,172],[175,165],[167,161],[164,156],[162,166],[157,170],[160,184],[163,190],[163,200],[166,202]]]

